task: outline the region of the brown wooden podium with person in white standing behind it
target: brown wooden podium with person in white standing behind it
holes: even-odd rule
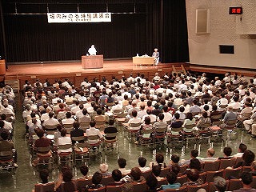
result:
[[[82,55],[82,69],[103,68],[103,54],[99,55]]]

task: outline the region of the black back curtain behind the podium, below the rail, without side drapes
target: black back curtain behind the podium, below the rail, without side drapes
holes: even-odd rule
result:
[[[8,62],[81,59],[91,44],[104,58],[127,58],[146,51],[143,14],[113,15],[110,23],[49,24],[46,15],[8,15]]]

